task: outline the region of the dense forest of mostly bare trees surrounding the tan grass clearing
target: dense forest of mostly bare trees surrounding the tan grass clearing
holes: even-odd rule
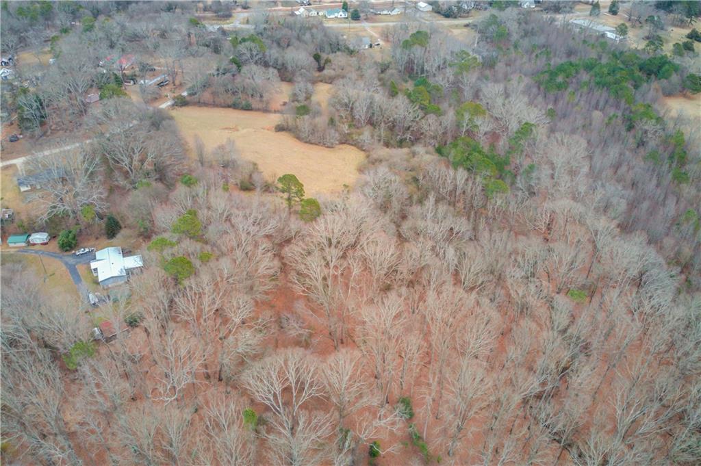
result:
[[[114,215],[146,265],[96,343],[86,304],[3,264],[4,462],[699,464],[701,126],[660,105],[699,69],[654,43],[693,7],[620,2],[651,29],[632,48],[492,3],[476,42],[397,22],[376,55],[266,11],[231,32],[188,3],[3,2],[3,54],[54,60],[18,67],[4,110],[39,148],[90,135],[31,160],[68,175],[22,222]],[[269,110],[291,83],[275,130],[362,149],[358,183],[309,198],[233,142],[189,147],[147,105],[149,60],[174,107]]]

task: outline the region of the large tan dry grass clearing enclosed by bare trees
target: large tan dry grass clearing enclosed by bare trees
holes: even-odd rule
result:
[[[196,106],[173,109],[171,114],[190,146],[195,135],[207,149],[232,139],[241,156],[256,163],[266,178],[295,174],[311,195],[352,186],[365,160],[365,153],[353,146],[315,146],[288,132],[275,132],[280,114]]]

